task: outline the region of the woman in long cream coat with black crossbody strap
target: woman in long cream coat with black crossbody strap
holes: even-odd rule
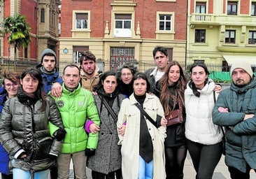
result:
[[[146,93],[150,89],[150,83],[144,73],[135,73],[133,81],[134,93],[122,101],[118,114],[118,129],[126,123],[125,135],[119,134],[118,143],[122,145],[122,177],[163,179],[166,178],[164,110],[157,96]],[[140,105],[152,120],[160,124],[155,127],[143,116],[136,104]]]

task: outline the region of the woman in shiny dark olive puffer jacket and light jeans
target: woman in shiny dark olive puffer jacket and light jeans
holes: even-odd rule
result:
[[[8,81],[4,86],[11,89],[16,85]],[[49,121],[59,128],[53,138]],[[13,178],[48,178],[49,169],[61,152],[64,138],[59,136],[61,129],[64,127],[57,105],[43,92],[41,72],[25,69],[17,96],[6,101],[0,120],[0,141],[9,152]]]

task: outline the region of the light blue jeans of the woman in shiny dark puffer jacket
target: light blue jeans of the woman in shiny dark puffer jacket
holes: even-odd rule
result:
[[[34,173],[34,179],[45,179],[48,178],[49,170],[46,171],[38,171]],[[24,171],[22,169],[13,168],[13,178],[22,178],[22,179],[29,179],[31,173],[29,171]]]

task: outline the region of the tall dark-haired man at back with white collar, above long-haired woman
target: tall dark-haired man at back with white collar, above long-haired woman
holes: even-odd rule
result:
[[[155,92],[155,84],[164,75],[164,71],[169,62],[167,49],[162,46],[155,47],[153,57],[156,67],[144,72],[150,82],[150,92]]]

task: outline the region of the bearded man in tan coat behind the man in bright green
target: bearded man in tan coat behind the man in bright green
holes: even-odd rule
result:
[[[83,88],[92,92],[92,87],[99,83],[99,76],[101,76],[102,71],[99,71],[96,64],[96,57],[92,52],[83,52],[79,59],[81,73],[80,83]]]

